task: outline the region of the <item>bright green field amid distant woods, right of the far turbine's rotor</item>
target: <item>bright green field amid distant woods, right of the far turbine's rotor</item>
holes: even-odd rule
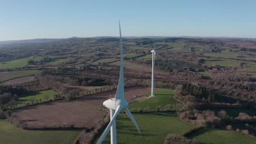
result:
[[[237,62],[233,59],[220,59],[219,61],[206,61],[205,64],[209,66],[237,67]]]

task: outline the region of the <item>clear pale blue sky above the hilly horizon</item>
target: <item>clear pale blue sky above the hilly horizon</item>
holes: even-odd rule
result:
[[[0,0],[0,40],[118,36],[256,38],[256,1]]]

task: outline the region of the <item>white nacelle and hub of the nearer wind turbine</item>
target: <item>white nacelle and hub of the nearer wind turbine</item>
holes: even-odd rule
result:
[[[103,105],[111,110],[117,110],[118,106],[121,106],[122,109],[126,109],[128,103],[125,99],[108,99],[103,102]]]

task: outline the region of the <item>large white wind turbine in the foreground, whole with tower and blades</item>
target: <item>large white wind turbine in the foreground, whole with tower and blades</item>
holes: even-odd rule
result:
[[[110,110],[110,122],[107,128],[104,130],[103,134],[101,135],[100,139],[98,140],[97,142],[98,144],[101,144],[103,142],[109,130],[111,135],[111,144],[117,143],[117,130],[115,125],[115,118],[117,118],[121,110],[124,110],[127,113],[131,121],[137,128],[138,133],[141,134],[138,124],[135,121],[135,118],[132,116],[130,110],[127,107],[129,104],[127,103],[124,97],[123,41],[121,36],[120,21],[119,21],[119,32],[120,32],[120,75],[119,75],[118,88],[117,88],[117,92],[115,93],[115,98],[108,99],[103,102],[103,105]]]

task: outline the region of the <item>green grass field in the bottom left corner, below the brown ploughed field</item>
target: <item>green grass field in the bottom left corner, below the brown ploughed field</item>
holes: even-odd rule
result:
[[[23,130],[0,119],[0,143],[3,144],[72,144],[79,133],[76,130]]]

